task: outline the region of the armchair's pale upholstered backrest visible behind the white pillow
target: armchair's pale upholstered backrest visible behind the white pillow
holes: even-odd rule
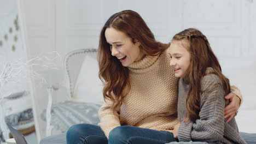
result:
[[[73,97],[75,83],[80,73],[80,69],[83,65],[86,56],[92,56],[97,59],[97,49],[81,49],[69,52],[65,57],[65,69],[67,71],[70,95]]]

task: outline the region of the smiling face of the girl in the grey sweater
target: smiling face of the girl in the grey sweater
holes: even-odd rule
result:
[[[173,68],[175,77],[183,77],[190,65],[190,53],[185,48],[188,41],[173,40],[169,48],[171,57],[170,65]]]

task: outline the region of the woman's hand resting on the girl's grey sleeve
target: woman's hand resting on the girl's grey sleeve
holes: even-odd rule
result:
[[[226,120],[225,123],[228,123],[229,121],[231,121],[233,117],[236,116],[241,100],[234,93],[229,93],[224,98],[226,100],[230,100],[230,103],[227,106],[225,106],[224,109],[224,119],[228,118],[228,120]]]

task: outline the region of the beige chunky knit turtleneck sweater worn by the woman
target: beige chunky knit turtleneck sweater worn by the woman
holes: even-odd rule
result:
[[[178,79],[169,63],[170,57],[165,51],[159,56],[146,56],[129,67],[131,89],[123,100],[120,115],[110,110],[110,100],[106,100],[99,111],[98,125],[107,137],[120,125],[172,132],[178,122]],[[238,89],[235,94],[240,94]]]

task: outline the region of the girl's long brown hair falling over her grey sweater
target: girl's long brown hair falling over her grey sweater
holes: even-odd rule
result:
[[[201,94],[202,92],[210,91],[213,87],[207,88],[205,91],[201,89],[203,76],[207,74],[216,74],[224,88],[225,94],[230,93],[229,79],[222,74],[217,57],[214,55],[207,38],[199,30],[188,28],[174,35],[174,40],[184,40],[184,46],[190,53],[190,65],[186,71],[183,80],[189,83],[189,90],[186,99],[186,108],[188,115],[184,122],[195,121],[199,118]],[[213,73],[206,73],[208,67],[213,68]]]

